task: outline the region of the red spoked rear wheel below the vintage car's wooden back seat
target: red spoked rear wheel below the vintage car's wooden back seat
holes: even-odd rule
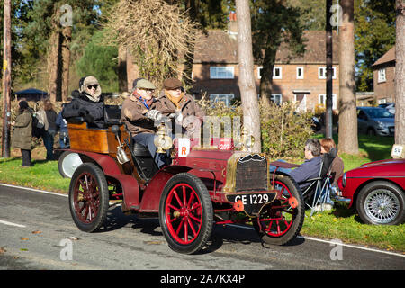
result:
[[[94,164],[78,166],[69,187],[70,213],[78,229],[93,232],[107,217],[108,185],[103,171]]]

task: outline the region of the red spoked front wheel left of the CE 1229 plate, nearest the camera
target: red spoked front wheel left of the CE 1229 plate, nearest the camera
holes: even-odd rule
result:
[[[211,197],[202,181],[187,173],[166,184],[159,206],[159,220],[169,247],[192,254],[211,236]]]

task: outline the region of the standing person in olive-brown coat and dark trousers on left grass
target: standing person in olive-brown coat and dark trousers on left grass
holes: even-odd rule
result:
[[[21,149],[23,167],[31,166],[32,114],[26,101],[19,103],[17,118],[11,124],[14,126],[13,147]]]

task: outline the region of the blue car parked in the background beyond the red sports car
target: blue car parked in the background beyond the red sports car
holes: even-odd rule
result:
[[[357,128],[359,133],[393,136],[394,115],[380,107],[357,107]]]

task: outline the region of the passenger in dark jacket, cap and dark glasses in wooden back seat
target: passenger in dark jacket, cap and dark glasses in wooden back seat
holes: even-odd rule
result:
[[[73,100],[63,108],[62,117],[83,117],[89,127],[103,128],[103,97],[101,86],[94,76],[85,76],[79,81],[79,90],[72,92]]]

